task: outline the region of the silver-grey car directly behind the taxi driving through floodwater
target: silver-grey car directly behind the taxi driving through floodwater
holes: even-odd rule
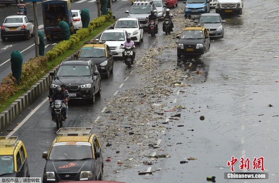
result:
[[[201,23],[207,28],[210,39],[218,39],[224,37],[224,23],[219,13],[201,14],[194,23]]]

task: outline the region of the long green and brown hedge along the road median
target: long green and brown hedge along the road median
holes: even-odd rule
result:
[[[48,72],[48,61],[57,58],[62,53],[65,53],[71,46],[80,42],[81,39],[90,35],[92,31],[99,26],[102,26],[107,20],[112,17],[112,12],[109,11],[108,15],[102,15],[95,18],[89,23],[88,28],[82,28],[77,31],[76,34],[70,36],[69,40],[59,42],[45,53],[46,56],[39,56],[30,58],[29,62],[22,65],[22,74],[20,84],[17,85],[16,79],[12,76],[12,73],[8,74],[0,86],[0,106],[4,106],[8,98],[16,94],[17,92],[27,91],[31,83],[36,83],[46,72]]]

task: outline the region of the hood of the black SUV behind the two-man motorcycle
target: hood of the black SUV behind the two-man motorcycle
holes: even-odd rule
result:
[[[90,79],[91,76],[55,76],[52,83],[57,85],[82,85],[91,83]]]

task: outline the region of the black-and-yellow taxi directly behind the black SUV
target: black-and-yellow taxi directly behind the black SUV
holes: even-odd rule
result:
[[[92,59],[101,76],[109,78],[113,73],[113,56],[106,41],[86,40],[78,54],[80,59]]]

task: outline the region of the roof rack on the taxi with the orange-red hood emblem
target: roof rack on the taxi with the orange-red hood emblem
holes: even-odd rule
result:
[[[93,127],[68,127],[60,128],[56,134],[58,136],[85,136],[92,134]]]

